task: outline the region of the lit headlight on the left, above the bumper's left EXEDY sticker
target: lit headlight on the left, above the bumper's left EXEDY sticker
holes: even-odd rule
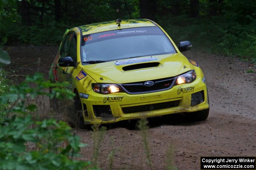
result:
[[[96,93],[100,93],[100,94],[110,94],[110,93],[122,92],[122,89],[116,84],[93,83],[92,89]]]

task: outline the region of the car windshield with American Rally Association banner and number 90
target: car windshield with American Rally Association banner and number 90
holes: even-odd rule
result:
[[[173,54],[176,50],[164,32],[152,26],[85,35],[82,37],[81,52],[84,62]]]

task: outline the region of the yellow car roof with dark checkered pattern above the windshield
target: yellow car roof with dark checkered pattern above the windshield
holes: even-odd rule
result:
[[[148,19],[130,19],[122,20],[120,27],[117,26],[116,20],[101,23],[92,23],[88,25],[78,26],[82,30],[82,35],[88,35],[96,32],[111,31],[115,29],[156,26],[156,24]]]

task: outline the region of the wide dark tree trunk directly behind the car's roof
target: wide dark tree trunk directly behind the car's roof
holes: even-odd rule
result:
[[[140,17],[153,20],[157,13],[156,0],[139,0]]]

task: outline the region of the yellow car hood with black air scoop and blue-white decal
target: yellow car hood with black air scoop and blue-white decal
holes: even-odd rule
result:
[[[173,77],[191,67],[184,55],[176,53],[83,65],[82,69],[96,82],[121,84]]]

